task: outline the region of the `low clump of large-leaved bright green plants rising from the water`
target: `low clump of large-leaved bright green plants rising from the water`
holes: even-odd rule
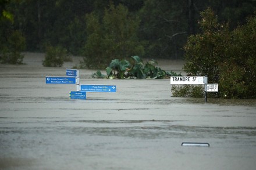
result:
[[[108,78],[167,78],[169,76],[176,76],[180,74],[176,74],[173,71],[170,73],[166,73],[166,71],[162,70],[155,65],[157,62],[155,60],[151,60],[146,64],[143,64],[143,61],[138,56],[132,56],[131,63],[127,60],[119,60],[115,59],[109,64],[109,67],[106,68],[106,77]],[[101,74],[100,71],[93,74],[93,78],[104,78],[105,76]]]

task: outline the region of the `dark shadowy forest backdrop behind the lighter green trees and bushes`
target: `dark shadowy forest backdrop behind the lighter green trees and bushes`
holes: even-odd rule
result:
[[[73,55],[85,56],[88,38],[95,33],[88,31],[88,20],[92,19],[88,15],[93,14],[94,20],[97,19],[99,27],[102,27],[106,10],[111,5],[122,5],[125,9],[120,9],[128,11],[127,20],[139,21],[137,30],[133,30],[136,37],[130,40],[137,41],[132,43],[143,47],[143,50],[139,50],[143,53],[138,55],[166,59],[183,58],[187,37],[200,32],[197,22],[202,10],[211,7],[218,15],[219,22],[228,22],[230,29],[233,29],[246,23],[246,17],[253,15],[256,7],[253,0],[1,0],[0,3],[1,53],[8,48],[6,44],[13,31],[19,31],[20,35],[17,36],[26,39],[24,50],[45,52],[48,45],[62,46]],[[104,36],[107,43],[112,25],[105,23],[104,26],[98,31],[103,31],[99,35]],[[113,34],[111,36],[113,38]],[[130,45],[130,48],[135,47]],[[123,52],[132,53],[133,50]]]

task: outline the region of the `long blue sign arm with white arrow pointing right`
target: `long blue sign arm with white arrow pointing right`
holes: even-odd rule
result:
[[[116,85],[80,85],[80,91],[84,92],[116,92]]]

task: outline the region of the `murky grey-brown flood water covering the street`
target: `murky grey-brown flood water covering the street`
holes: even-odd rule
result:
[[[0,65],[0,169],[256,167],[256,100],[205,104],[172,97],[169,79],[92,79],[92,70],[80,70],[81,84],[114,84],[116,93],[70,100],[76,85],[45,84],[65,67],[31,61]]]

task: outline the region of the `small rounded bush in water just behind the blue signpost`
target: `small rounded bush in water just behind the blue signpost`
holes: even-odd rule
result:
[[[45,60],[42,65],[45,67],[62,67],[64,62],[69,62],[72,59],[69,57],[67,50],[61,46],[48,45],[45,53]]]

